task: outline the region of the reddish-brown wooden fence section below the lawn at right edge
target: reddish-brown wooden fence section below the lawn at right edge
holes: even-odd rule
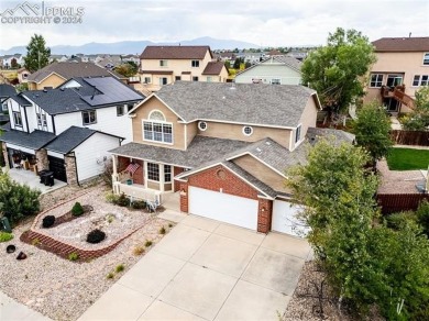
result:
[[[425,199],[429,201],[429,193],[378,193],[377,203],[383,214],[402,211],[415,211]]]

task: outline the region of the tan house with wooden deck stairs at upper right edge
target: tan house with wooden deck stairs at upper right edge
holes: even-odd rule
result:
[[[384,37],[373,42],[365,102],[377,100],[389,111],[414,108],[415,93],[429,85],[429,37]]]

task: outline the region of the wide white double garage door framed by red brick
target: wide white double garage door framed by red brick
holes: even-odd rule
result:
[[[244,197],[189,187],[189,213],[256,230],[257,201]]]

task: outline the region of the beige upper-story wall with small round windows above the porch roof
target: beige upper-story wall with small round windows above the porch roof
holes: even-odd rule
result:
[[[241,124],[207,122],[207,130],[201,131],[198,129],[198,135],[244,142],[256,142],[262,139],[270,137],[282,146],[289,148],[290,130],[272,129],[255,125],[252,125],[252,128],[253,134],[246,136],[243,134],[243,125]]]

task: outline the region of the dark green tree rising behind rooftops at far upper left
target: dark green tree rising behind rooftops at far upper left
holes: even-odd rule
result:
[[[24,66],[30,73],[37,71],[50,64],[51,48],[42,35],[34,34],[26,46]]]

